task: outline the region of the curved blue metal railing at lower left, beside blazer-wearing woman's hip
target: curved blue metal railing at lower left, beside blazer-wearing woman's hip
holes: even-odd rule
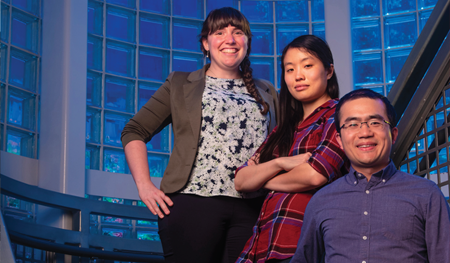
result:
[[[16,243],[75,256],[123,261],[164,262],[158,241],[124,239],[90,233],[90,215],[156,220],[146,207],[101,202],[62,194],[25,184],[0,175],[1,193],[18,199],[57,208],[72,218],[72,229],[23,222],[4,217],[10,239]],[[94,249],[94,248],[101,248]]]

